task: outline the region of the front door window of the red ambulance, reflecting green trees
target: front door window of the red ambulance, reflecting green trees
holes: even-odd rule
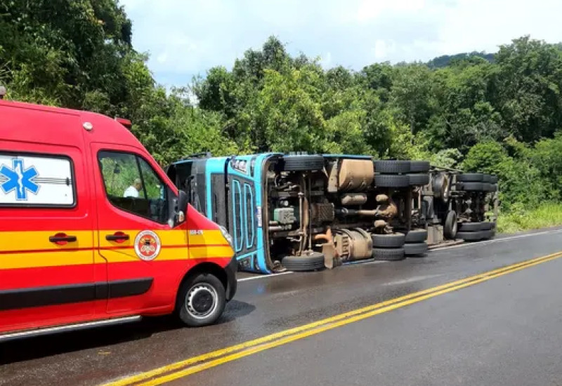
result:
[[[144,159],[129,153],[100,152],[98,160],[107,199],[113,206],[167,222],[165,185]]]

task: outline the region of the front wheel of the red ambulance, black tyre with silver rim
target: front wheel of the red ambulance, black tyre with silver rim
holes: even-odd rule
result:
[[[178,316],[190,327],[213,324],[224,311],[224,286],[212,274],[197,274],[183,283],[178,293]]]

